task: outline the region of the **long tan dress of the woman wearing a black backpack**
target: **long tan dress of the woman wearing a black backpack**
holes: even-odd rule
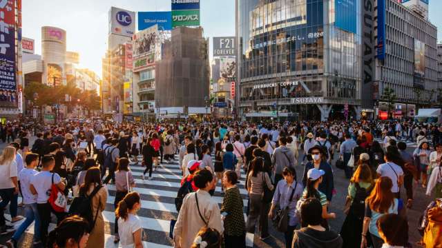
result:
[[[94,187],[91,187],[88,190],[88,194],[93,192],[93,189]],[[107,198],[108,198],[108,189],[106,189],[106,186],[103,186],[101,189],[99,189],[97,194],[95,194],[95,196],[92,198],[92,211],[94,219],[98,207],[99,210],[98,210],[97,221],[95,221],[94,229],[89,235],[88,244],[86,245],[86,248],[104,247],[104,218],[102,212],[106,207]]]

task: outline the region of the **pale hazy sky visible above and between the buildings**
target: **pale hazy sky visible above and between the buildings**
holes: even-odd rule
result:
[[[235,35],[235,0],[201,0],[204,37]],[[44,0],[23,1],[23,37],[35,39],[41,54],[41,27],[52,25],[67,32],[67,49],[79,52],[80,67],[101,77],[102,57],[107,48],[108,10],[111,6],[132,11],[169,11],[170,0]],[[430,0],[430,21],[442,41],[441,0]]]

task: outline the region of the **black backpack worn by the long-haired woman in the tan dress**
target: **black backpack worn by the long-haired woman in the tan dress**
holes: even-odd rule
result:
[[[102,187],[103,186],[95,187],[95,189],[93,190],[93,192],[90,193],[89,196],[87,196],[86,194],[81,194],[81,196],[75,197],[72,204],[70,205],[70,208],[69,208],[69,215],[70,216],[77,215],[77,216],[85,218],[88,221],[88,223],[89,223],[88,233],[90,233],[90,231],[92,231],[92,229],[95,226],[95,222],[97,221],[98,210],[99,210],[99,207],[98,207],[97,212],[95,213],[95,219],[94,219],[92,211],[91,211],[92,198],[95,196],[95,194],[97,194],[99,189],[101,189]]]

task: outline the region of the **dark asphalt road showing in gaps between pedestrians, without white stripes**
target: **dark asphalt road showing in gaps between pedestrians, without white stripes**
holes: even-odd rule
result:
[[[33,138],[31,139],[30,143],[33,143]],[[3,149],[3,147],[4,144],[0,144],[0,149]],[[413,152],[413,150],[414,148],[407,149],[408,152]],[[300,158],[302,158],[302,153],[300,153]],[[334,165],[334,163],[332,164]],[[298,179],[300,179],[303,169],[304,167],[302,167],[301,165],[298,165],[298,167],[296,168]],[[334,167],[334,185],[336,188],[336,195],[334,195],[329,211],[336,213],[337,218],[334,220],[329,220],[329,225],[331,225],[332,230],[339,232],[340,227],[342,226],[343,221],[345,220],[343,207],[345,203],[345,198],[347,196],[347,187],[349,185],[349,180],[345,178],[343,170],[336,169],[336,167]],[[401,192],[402,192],[402,198],[406,198],[404,188],[401,189]],[[430,200],[432,199],[425,196],[425,189],[423,189],[420,185],[417,186],[414,185],[414,205],[412,209],[407,209],[410,242],[412,243],[413,247],[419,247],[418,245],[416,245],[416,242],[419,242],[421,236],[416,230],[417,223],[419,217],[423,213],[423,210],[425,209],[427,204],[430,203]],[[19,208],[19,214],[23,215],[22,208]],[[158,218],[164,218],[164,216],[158,216]],[[106,224],[105,229],[106,233],[110,233],[111,229],[113,229],[113,225]],[[285,247],[284,235],[276,231],[276,229],[274,229],[273,227],[271,227],[270,223],[269,223],[269,229],[270,229],[271,238],[265,240],[265,242],[262,242],[259,239],[259,235],[255,235],[253,238],[253,247]],[[0,244],[5,244],[8,238],[9,236],[1,236]],[[24,235],[19,247],[32,247],[32,235],[30,234]]]

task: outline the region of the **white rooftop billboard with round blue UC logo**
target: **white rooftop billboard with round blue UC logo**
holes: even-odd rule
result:
[[[135,32],[135,12],[111,7],[109,11],[109,33],[132,37]]]

